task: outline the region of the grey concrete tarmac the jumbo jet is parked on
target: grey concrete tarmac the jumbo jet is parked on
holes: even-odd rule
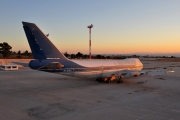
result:
[[[0,71],[0,120],[180,120],[180,62],[142,62],[175,72],[106,84],[28,67]]]

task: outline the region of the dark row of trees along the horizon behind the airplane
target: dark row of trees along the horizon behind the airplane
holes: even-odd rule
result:
[[[28,50],[21,52],[11,51],[12,47],[7,43],[0,43],[0,58],[13,58],[13,59],[33,59],[33,55]],[[69,59],[89,59],[89,55],[77,52],[76,54],[69,54],[65,52],[64,55]],[[138,55],[92,55],[92,59],[125,59],[125,58],[168,58],[167,56],[138,56]],[[175,58],[171,56],[170,58]]]

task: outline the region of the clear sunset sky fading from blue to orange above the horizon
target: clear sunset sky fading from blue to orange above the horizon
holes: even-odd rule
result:
[[[0,43],[30,51],[22,21],[61,52],[180,53],[180,0],[0,0]]]

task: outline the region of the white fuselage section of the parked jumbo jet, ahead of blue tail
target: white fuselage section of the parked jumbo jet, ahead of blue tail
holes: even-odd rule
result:
[[[137,58],[123,60],[83,59],[71,61],[86,68],[82,71],[74,70],[71,72],[63,72],[63,74],[83,78],[108,77],[112,74],[121,75],[122,73],[128,74],[130,72],[132,73],[133,71],[140,71],[143,68],[143,64]]]

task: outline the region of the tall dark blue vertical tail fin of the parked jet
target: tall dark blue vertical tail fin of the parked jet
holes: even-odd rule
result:
[[[36,24],[28,22],[22,24],[35,59],[67,59]]]

